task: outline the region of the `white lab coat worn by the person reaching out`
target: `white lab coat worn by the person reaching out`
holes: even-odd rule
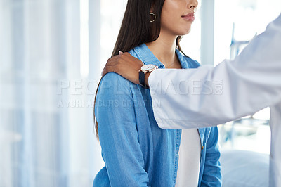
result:
[[[148,81],[163,129],[214,126],[270,106],[270,186],[281,186],[281,15],[235,60],[155,70]]]

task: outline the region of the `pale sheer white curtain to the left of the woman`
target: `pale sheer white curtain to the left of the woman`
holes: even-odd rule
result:
[[[0,186],[91,186],[98,28],[97,0],[0,1]]]

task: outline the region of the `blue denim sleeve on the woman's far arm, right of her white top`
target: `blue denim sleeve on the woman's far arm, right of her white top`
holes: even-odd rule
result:
[[[206,145],[206,157],[201,186],[221,186],[221,153],[218,149],[218,127],[211,127]]]

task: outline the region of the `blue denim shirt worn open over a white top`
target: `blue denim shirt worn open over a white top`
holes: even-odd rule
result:
[[[129,53],[144,64],[164,68],[145,44]],[[176,54],[182,68],[200,65],[178,50]],[[105,167],[93,186],[175,186],[181,129],[158,127],[149,89],[107,73],[100,82],[95,109]],[[221,186],[218,129],[198,131],[202,146],[198,186]]]

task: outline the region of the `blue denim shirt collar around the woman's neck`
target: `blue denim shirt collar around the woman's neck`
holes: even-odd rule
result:
[[[157,65],[158,68],[162,68],[162,69],[165,68],[164,64],[162,64],[160,60],[156,58],[156,56],[150,51],[150,49],[148,48],[148,46],[146,46],[146,44],[141,44],[140,46],[137,46],[134,50],[136,51],[136,53],[138,53],[140,60],[145,65],[153,64],[153,65]],[[176,55],[178,56],[178,60],[181,63],[181,67],[183,69],[187,69],[188,62],[187,60],[185,60],[185,57],[181,54],[181,51],[178,51],[178,49],[176,49]]]

